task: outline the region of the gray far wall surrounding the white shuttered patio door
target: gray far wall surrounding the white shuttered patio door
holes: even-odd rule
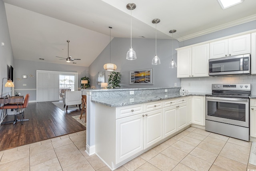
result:
[[[22,79],[20,81],[15,80],[15,91],[21,93],[21,95],[26,95],[30,93],[30,101],[36,100],[36,70],[47,70],[47,71],[60,71],[60,72],[77,72],[78,80],[84,76],[89,76],[89,68],[73,65],[64,64],[52,64],[47,62],[35,62],[27,60],[14,60],[14,74],[16,78],[22,78],[22,75],[27,75],[27,79]],[[30,77],[29,75],[34,77]],[[26,84],[26,86],[23,86]],[[80,87],[80,82],[78,81],[78,88]]]

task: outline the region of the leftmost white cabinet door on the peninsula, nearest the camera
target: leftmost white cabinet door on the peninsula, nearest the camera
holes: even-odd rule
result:
[[[116,163],[144,149],[143,115],[116,119]]]

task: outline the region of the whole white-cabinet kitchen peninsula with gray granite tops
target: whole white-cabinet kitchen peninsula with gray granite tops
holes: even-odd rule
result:
[[[192,123],[204,126],[204,94],[180,93],[180,87],[81,91],[87,95],[86,153],[112,170]],[[194,110],[200,116],[193,117]]]

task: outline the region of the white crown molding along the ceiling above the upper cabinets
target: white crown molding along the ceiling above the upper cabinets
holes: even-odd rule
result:
[[[219,30],[223,30],[223,29],[226,29],[226,28],[230,28],[230,27],[237,26],[239,24],[243,24],[243,23],[246,23],[246,22],[254,21],[254,20],[256,20],[256,14],[254,14],[252,16],[249,16],[249,17],[246,17],[246,18],[242,18],[240,20],[235,20],[233,22],[222,24],[220,26],[213,27],[213,28],[204,30],[202,32],[197,32],[197,33],[194,33],[194,34],[190,34],[188,36],[184,36],[184,37],[178,38],[177,40],[179,42],[181,42],[181,41],[184,41],[184,40],[196,38],[198,36],[202,36],[202,35],[205,35],[205,34],[216,32],[216,31],[219,31]]]

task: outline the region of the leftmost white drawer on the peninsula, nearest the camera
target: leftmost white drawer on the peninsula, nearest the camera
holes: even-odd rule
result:
[[[116,108],[116,119],[144,113],[144,105],[129,105]]]

